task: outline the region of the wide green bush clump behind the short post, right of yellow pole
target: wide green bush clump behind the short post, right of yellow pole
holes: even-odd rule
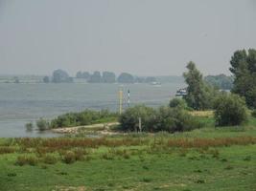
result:
[[[160,107],[152,109],[144,105],[137,105],[121,115],[119,121],[125,131],[138,131],[139,117],[141,117],[142,131],[145,132],[182,132],[201,127],[196,117],[192,117],[180,107]]]

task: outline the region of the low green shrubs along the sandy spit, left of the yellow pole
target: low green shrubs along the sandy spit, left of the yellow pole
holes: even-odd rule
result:
[[[51,128],[58,127],[71,127],[90,125],[98,122],[113,121],[117,117],[117,114],[111,113],[108,110],[92,111],[85,110],[80,113],[68,113],[53,119],[50,123]]]

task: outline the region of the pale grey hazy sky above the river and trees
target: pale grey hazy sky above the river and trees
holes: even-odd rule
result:
[[[244,48],[256,0],[0,0],[0,74],[229,74]]]

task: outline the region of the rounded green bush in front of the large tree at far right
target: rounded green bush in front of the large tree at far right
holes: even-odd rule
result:
[[[217,126],[240,125],[247,119],[245,100],[233,94],[222,94],[214,103]]]

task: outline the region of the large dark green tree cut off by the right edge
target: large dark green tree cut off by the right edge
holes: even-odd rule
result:
[[[232,92],[244,96],[246,104],[256,108],[256,50],[236,51],[230,64],[230,72],[235,78]]]

